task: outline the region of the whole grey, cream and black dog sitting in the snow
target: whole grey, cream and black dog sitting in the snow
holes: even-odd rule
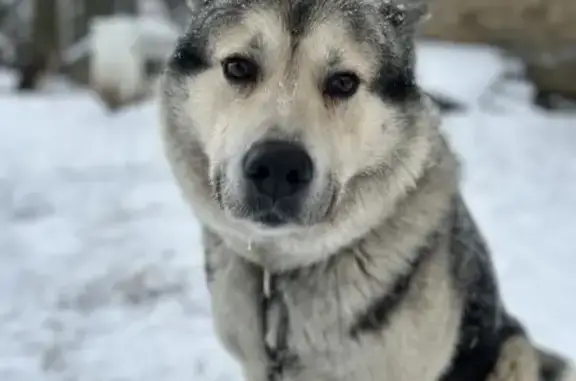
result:
[[[503,306],[403,1],[189,1],[162,133],[216,331],[247,381],[575,381]]]

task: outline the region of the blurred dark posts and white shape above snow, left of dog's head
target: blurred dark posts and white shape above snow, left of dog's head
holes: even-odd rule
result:
[[[184,0],[3,0],[0,63],[12,88],[48,76],[93,89],[110,109],[150,95],[189,17]]]

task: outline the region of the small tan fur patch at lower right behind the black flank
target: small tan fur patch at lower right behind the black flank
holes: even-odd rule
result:
[[[514,336],[500,350],[496,367],[487,381],[538,381],[539,361],[528,338]]]

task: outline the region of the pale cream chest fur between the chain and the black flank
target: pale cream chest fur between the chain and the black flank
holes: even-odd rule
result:
[[[367,277],[347,264],[264,276],[269,380],[435,380],[450,359],[459,316],[439,264],[417,277],[426,287],[407,292],[386,327],[361,335],[353,329],[359,316],[395,288],[394,278]]]

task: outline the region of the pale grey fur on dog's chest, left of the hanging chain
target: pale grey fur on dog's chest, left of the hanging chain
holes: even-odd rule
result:
[[[266,381],[262,272],[204,232],[205,264],[216,333],[238,360],[246,381]]]

